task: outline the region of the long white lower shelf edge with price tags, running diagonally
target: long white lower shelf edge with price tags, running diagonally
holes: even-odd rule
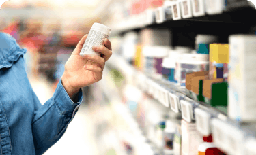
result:
[[[234,154],[232,148],[236,148],[236,154],[242,154],[242,151],[245,150],[256,151],[252,148],[246,148],[245,143],[247,139],[256,141],[255,124],[240,124],[231,120],[226,112],[186,96],[183,88],[179,88],[170,82],[150,78],[150,76],[134,69],[121,56],[113,55],[106,65],[122,73],[128,82],[151,95],[159,101],[159,104],[181,113],[182,118],[187,122],[196,122],[197,130],[201,134],[208,135],[212,133],[214,143],[228,154]],[[172,97],[177,100],[175,98],[171,99]],[[232,143],[226,145],[230,141]]]

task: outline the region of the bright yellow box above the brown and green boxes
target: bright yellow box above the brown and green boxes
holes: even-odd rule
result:
[[[210,44],[209,61],[212,63],[229,63],[229,44]]]

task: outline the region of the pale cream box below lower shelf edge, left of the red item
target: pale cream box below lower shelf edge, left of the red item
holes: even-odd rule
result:
[[[197,148],[201,143],[203,136],[197,131],[197,125],[182,120],[182,155],[197,154]]]

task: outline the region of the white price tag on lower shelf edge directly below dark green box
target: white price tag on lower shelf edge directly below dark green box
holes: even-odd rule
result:
[[[214,143],[222,150],[227,150],[227,135],[226,128],[228,127],[226,123],[218,118],[212,119],[212,137]]]

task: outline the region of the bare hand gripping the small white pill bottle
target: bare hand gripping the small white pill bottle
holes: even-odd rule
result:
[[[86,38],[87,35],[79,41],[72,55],[68,58],[61,78],[63,87],[70,97],[76,94],[81,87],[100,81],[105,62],[112,55],[111,42],[109,39],[104,39],[104,46],[93,47],[95,52],[103,54],[102,57],[89,54],[80,56],[79,53],[83,48]]]

